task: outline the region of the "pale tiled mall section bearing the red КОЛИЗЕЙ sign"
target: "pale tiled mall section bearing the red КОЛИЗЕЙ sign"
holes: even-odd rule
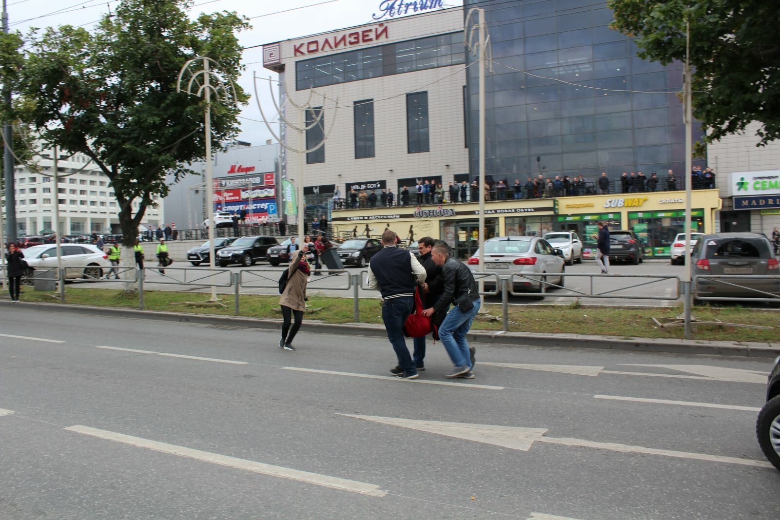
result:
[[[315,92],[305,112],[285,104],[282,136],[296,149],[327,136],[303,157],[307,203],[324,204],[337,186],[342,197],[353,187],[397,197],[416,179],[468,178],[462,8],[267,44],[263,58],[282,100],[306,104]],[[302,137],[297,128],[317,116]],[[282,179],[299,189],[300,154],[282,155]]]

